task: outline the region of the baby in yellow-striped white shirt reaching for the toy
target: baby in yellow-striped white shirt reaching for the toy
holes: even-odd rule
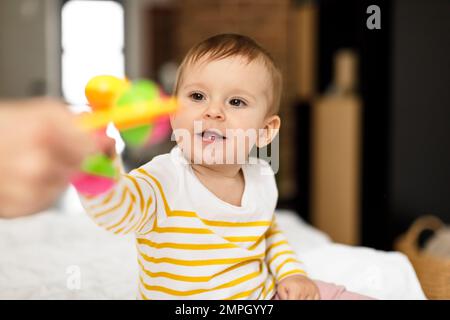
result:
[[[202,41],[176,79],[177,146],[129,174],[117,158],[112,189],[80,194],[99,226],[135,234],[138,298],[366,298],[308,278],[277,227],[274,173],[249,153],[280,128],[281,87],[273,59],[248,37]]]

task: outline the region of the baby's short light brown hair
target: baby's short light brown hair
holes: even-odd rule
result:
[[[206,61],[220,60],[240,56],[250,63],[261,61],[269,72],[272,82],[272,101],[270,101],[268,116],[277,114],[280,108],[282,75],[270,53],[253,39],[239,34],[219,34],[205,39],[193,46],[181,62],[174,85],[174,95],[178,93],[183,72],[187,65],[198,62],[205,57]]]

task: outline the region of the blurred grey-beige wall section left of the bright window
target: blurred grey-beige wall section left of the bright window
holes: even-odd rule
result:
[[[58,1],[0,1],[0,96],[60,94]]]

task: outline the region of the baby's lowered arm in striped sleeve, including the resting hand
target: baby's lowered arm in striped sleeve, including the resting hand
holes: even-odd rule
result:
[[[277,283],[276,299],[318,299],[319,291],[307,277],[275,217],[266,233],[266,263]]]

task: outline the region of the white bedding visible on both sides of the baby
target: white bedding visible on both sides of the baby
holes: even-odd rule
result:
[[[278,223],[310,277],[377,299],[425,299],[399,252],[333,243],[294,212]],[[132,236],[103,231],[67,193],[58,210],[0,220],[0,299],[135,299]]]

